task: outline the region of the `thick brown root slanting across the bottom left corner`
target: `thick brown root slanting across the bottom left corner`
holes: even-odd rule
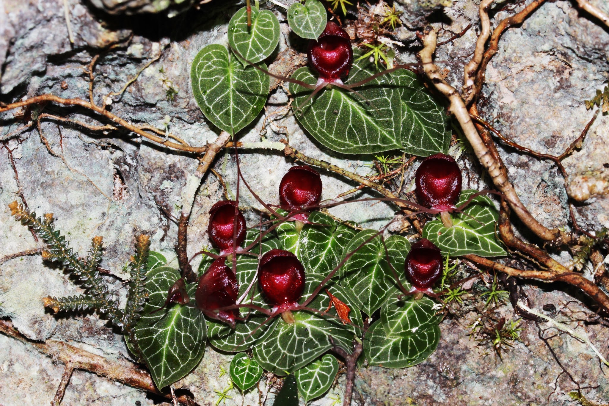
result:
[[[152,381],[150,374],[136,368],[129,362],[114,362],[100,355],[74,347],[59,340],[30,341],[19,333],[13,324],[7,320],[0,320],[0,333],[13,337],[26,345],[32,346],[41,354],[47,355],[56,362],[72,363],[75,369],[82,369],[110,380],[124,383],[130,387],[141,389],[171,399],[171,395],[159,391]],[[185,395],[178,396],[181,403],[188,402]]]

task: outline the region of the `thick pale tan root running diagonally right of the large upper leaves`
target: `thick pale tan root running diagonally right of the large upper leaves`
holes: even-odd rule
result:
[[[505,173],[501,170],[501,163],[493,158],[488,148],[482,142],[476,127],[470,118],[470,113],[465,107],[465,102],[456,89],[446,83],[442,75],[438,71],[438,67],[432,63],[432,56],[435,52],[436,44],[436,33],[431,27],[427,27],[423,33],[418,34],[421,41],[423,42],[424,48],[419,52],[419,58],[423,63],[423,71],[426,76],[434,83],[434,86],[440,93],[442,93],[450,101],[449,110],[456,117],[457,121],[463,130],[466,138],[470,142],[470,145],[476,154],[479,162],[487,170],[491,180],[495,186],[501,191],[505,198],[509,201],[510,206],[518,215],[519,219],[529,228],[533,233],[537,234],[543,240],[551,241],[559,239],[561,232],[559,229],[548,229],[544,225],[533,217],[530,212],[524,207],[520,201],[518,194],[514,189],[513,184],[505,176]]]

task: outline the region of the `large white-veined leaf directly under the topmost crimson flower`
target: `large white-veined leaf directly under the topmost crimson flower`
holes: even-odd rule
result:
[[[362,55],[358,49],[354,57]],[[345,84],[367,79],[378,72],[367,58],[354,61]],[[292,79],[315,85],[317,75],[309,68],[299,68]],[[400,91],[389,75],[378,77],[357,88],[371,102],[356,94],[332,86],[322,89],[306,105],[311,89],[290,83],[294,94],[296,117],[317,141],[331,150],[343,153],[376,153],[401,149],[402,111]]]

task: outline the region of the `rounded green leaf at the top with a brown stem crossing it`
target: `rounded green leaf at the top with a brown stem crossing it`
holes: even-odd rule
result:
[[[252,27],[247,26],[247,7],[234,13],[228,23],[228,44],[239,53],[236,56],[243,65],[269,57],[275,51],[279,37],[279,21],[269,10],[252,7]]]

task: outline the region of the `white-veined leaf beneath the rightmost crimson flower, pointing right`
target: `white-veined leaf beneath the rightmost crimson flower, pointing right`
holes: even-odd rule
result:
[[[476,192],[471,189],[462,191],[456,206],[465,203]],[[428,222],[423,229],[423,237],[437,245],[442,254],[476,254],[484,257],[506,254],[495,237],[499,213],[487,196],[475,197],[463,210],[463,214],[451,214],[451,219],[451,228],[446,228],[440,220],[434,220]]]

